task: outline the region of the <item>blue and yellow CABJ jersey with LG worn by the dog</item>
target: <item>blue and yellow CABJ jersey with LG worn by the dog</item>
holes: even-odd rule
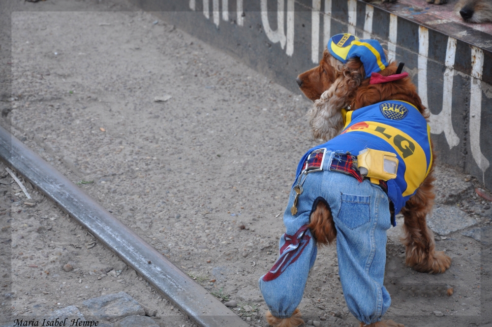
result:
[[[353,156],[366,148],[395,153],[399,161],[397,177],[387,184],[388,197],[395,205],[395,213],[399,213],[431,168],[430,127],[426,119],[415,106],[400,100],[348,111],[345,118],[340,135],[315,148],[350,152]]]

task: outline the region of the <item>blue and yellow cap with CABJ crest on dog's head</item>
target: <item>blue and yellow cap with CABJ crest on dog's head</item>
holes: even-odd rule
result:
[[[328,50],[343,64],[351,58],[360,58],[366,71],[366,78],[370,77],[371,73],[377,73],[389,65],[379,41],[361,40],[349,33],[332,36],[328,41]]]

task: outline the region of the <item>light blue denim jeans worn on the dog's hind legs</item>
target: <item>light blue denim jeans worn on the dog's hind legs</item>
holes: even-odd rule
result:
[[[329,204],[337,229],[338,273],[348,309],[360,322],[371,324],[380,321],[391,304],[383,286],[386,230],[390,228],[388,197],[369,180],[359,183],[352,176],[329,171],[333,156],[327,151],[323,170],[307,174],[294,216],[291,192],[283,216],[286,233],[280,237],[280,256],[258,284],[274,316],[292,315],[316,259],[315,240],[307,224],[313,204],[321,197]]]

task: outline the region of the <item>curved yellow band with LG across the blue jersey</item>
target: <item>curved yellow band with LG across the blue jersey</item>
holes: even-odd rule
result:
[[[349,124],[349,112],[347,112],[347,125]],[[405,163],[406,190],[402,196],[412,195],[422,184],[429,169],[424,149],[408,134],[392,126],[377,122],[360,122],[350,126],[342,132],[363,131],[378,136],[388,142],[400,155]],[[429,165],[430,167],[430,165]]]

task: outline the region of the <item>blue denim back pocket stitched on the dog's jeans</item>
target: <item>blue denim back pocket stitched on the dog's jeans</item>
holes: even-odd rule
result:
[[[338,219],[349,229],[356,229],[370,222],[370,196],[341,194]]]

